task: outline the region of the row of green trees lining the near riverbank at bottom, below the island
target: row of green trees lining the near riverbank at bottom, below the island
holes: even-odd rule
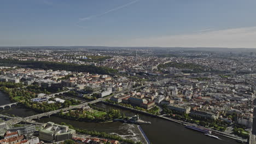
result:
[[[105,132],[98,132],[98,131],[89,131],[86,129],[79,129],[79,128],[74,128],[72,125],[70,124],[66,124],[66,123],[60,123],[61,125],[67,125],[69,128],[74,129],[77,133],[79,134],[86,134],[86,135],[92,135],[92,136],[98,136],[98,137],[103,137],[106,139],[112,139],[112,140],[117,140],[117,141],[121,141],[121,142],[126,142],[126,143],[130,143],[130,144],[142,144],[142,142],[134,142],[133,140],[130,139],[123,139],[121,136],[118,135],[110,135],[107,134]]]

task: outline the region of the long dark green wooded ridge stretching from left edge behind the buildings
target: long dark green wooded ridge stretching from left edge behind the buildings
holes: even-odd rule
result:
[[[26,65],[32,69],[53,69],[78,72],[89,72],[92,74],[113,74],[117,70],[108,67],[96,67],[95,65],[79,65],[74,63],[45,62],[45,61],[17,61],[14,59],[0,59],[0,63]]]

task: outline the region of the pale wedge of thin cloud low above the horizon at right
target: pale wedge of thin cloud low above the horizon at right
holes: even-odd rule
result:
[[[112,46],[231,47],[256,48],[256,27],[242,27],[201,33],[126,39]],[[113,41],[112,41],[113,43]]]

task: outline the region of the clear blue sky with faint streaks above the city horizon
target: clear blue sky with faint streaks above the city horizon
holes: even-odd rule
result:
[[[0,0],[0,46],[256,48],[255,0]]]

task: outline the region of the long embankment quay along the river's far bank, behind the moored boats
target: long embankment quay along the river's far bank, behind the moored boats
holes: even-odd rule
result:
[[[131,110],[131,111],[134,111],[134,112],[137,112],[137,113],[142,113],[144,115],[152,116],[152,117],[155,117],[155,118],[165,119],[166,121],[171,121],[171,122],[175,122],[175,123],[179,123],[179,124],[184,124],[184,125],[192,124],[192,123],[188,123],[188,122],[179,121],[179,120],[173,119],[173,118],[153,115],[152,113],[148,113],[146,111],[141,111],[141,110],[133,109],[131,107],[126,107],[126,106],[123,106],[123,105],[117,105],[117,104],[108,103],[106,101],[101,101],[101,103],[106,104],[106,105],[115,106],[115,107],[120,107],[121,109],[125,109],[125,110]],[[211,128],[208,128],[208,129],[211,129]],[[241,137],[236,137],[236,136],[233,136],[233,135],[230,135],[230,134],[223,133],[221,131],[217,131],[217,130],[213,130],[213,129],[211,129],[211,131],[214,134],[218,134],[218,135],[222,135],[222,136],[225,136],[225,137],[229,137],[230,139],[234,139],[234,140],[238,140],[238,141],[243,141],[243,142],[247,141],[246,139],[241,139]]]

